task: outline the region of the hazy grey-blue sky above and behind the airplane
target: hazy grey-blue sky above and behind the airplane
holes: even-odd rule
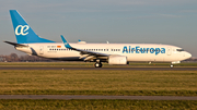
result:
[[[61,42],[164,44],[197,57],[197,0],[0,0],[0,54],[24,54],[9,10],[43,38]]]

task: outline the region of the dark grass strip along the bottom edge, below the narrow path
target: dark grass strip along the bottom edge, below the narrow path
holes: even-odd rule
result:
[[[1,110],[196,110],[189,100],[0,100]]]

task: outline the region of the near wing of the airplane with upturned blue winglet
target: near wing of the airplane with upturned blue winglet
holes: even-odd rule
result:
[[[76,50],[76,51],[80,52],[80,54],[81,54],[80,59],[85,58],[84,60],[90,60],[90,59],[97,58],[97,57],[109,57],[109,54],[106,54],[106,53],[73,48],[68,44],[68,41],[65,39],[65,37],[62,35],[61,35],[61,39],[62,39],[66,48],[69,48],[71,50]]]

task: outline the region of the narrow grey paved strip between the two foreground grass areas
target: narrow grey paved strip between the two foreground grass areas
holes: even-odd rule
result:
[[[197,100],[186,96],[80,96],[80,95],[0,95],[0,99],[127,99],[127,100]]]

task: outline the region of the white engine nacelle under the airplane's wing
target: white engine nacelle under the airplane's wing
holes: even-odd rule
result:
[[[127,64],[127,57],[125,57],[125,56],[109,56],[108,64]]]

